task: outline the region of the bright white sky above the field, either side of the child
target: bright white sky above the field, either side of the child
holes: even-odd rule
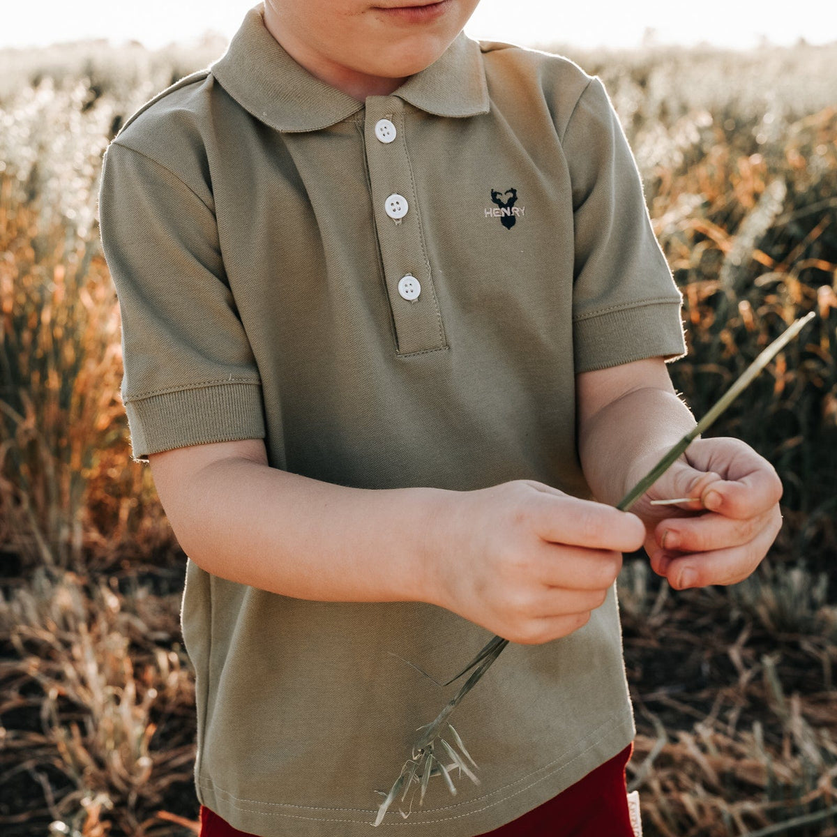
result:
[[[40,0],[3,9],[0,47],[69,40],[137,40],[151,48],[188,43],[212,31],[229,39],[254,0]],[[834,0],[753,3],[671,0],[570,3],[567,0],[482,0],[465,30],[472,37],[521,44],[633,47],[649,40],[749,49],[767,44],[837,41]]]

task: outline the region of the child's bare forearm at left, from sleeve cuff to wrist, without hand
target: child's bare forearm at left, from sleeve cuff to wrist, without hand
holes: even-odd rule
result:
[[[150,454],[187,555],[221,578],[295,598],[426,598],[433,488],[368,490],[271,468],[263,439]]]

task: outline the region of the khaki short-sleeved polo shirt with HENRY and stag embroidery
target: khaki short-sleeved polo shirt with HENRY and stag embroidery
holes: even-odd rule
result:
[[[272,467],[338,485],[589,497],[574,376],[685,350],[601,81],[460,33],[362,103],[296,64],[263,11],[105,154],[135,459],[264,438]],[[444,682],[491,635],[435,605],[291,598],[191,560],[181,615],[198,799],[264,837],[372,834],[375,790],[462,682],[393,655]],[[615,585],[575,633],[510,644],[451,721],[481,783],[455,778],[453,796],[436,776],[380,833],[496,829],[631,741]]]

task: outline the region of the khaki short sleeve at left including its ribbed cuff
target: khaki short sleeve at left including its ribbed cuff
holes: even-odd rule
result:
[[[213,208],[151,157],[111,142],[99,215],[121,312],[133,459],[263,438],[261,378],[223,269]]]

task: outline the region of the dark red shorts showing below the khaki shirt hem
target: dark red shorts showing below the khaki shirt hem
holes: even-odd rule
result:
[[[630,742],[622,752],[600,764],[574,785],[478,837],[634,837],[628,811],[625,765],[634,751]],[[198,837],[256,837],[234,829],[218,814],[201,805]]]

